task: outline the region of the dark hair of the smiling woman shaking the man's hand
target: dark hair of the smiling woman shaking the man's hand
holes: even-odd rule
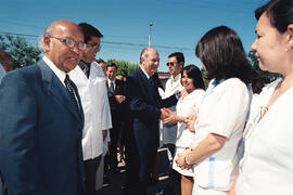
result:
[[[190,64],[186,67],[183,67],[181,72],[181,78],[183,76],[183,72],[187,72],[188,78],[191,78],[193,81],[193,86],[195,89],[205,89],[204,88],[204,81],[203,81],[203,76],[200,70],[200,68],[193,64]]]

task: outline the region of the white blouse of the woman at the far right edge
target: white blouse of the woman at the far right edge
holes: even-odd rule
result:
[[[246,125],[237,195],[293,194],[293,88],[279,96],[257,122],[260,108],[267,106],[280,81],[263,89],[257,98],[258,112]]]

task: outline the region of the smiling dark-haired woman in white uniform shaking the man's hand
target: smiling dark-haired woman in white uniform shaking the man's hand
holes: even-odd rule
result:
[[[178,153],[182,153],[190,147],[194,138],[194,132],[188,129],[184,123],[188,117],[198,112],[198,107],[204,95],[204,81],[201,70],[195,65],[188,65],[181,73],[181,84],[184,88],[184,93],[179,99],[176,105],[176,113],[164,120],[165,123],[178,122],[177,141],[175,158]],[[181,174],[181,194],[191,195],[193,187],[193,171],[192,169],[181,169],[174,161],[173,168]]]

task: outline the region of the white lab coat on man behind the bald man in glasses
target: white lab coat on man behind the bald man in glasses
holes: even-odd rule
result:
[[[102,130],[112,128],[106,78],[95,62],[91,63],[89,78],[79,66],[69,73],[69,77],[77,86],[85,114],[81,141],[84,160],[93,159],[103,153]]]

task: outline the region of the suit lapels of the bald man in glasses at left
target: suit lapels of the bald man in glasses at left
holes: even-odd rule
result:
[[[79,117],[78,112],[76,110],[69,93],[67,92],[66,88],[61,83],[60,79],[55,76],[53,70],[43,61],[40,61],[38,65],[40,67],[42,81],[47,90],[52,94],[52,96],[58,99],[58,101],[63,104],[77,119],[82,120]],[[80,101],[79,105],[81,105]]]

